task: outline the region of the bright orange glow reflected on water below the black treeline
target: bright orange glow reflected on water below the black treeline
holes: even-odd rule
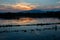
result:
[[[32,24],[32,23],[36,23],[36,20],[34,18],[20,18],[18,20],[19,24],[21,25],[25,25],[25,24]]]

